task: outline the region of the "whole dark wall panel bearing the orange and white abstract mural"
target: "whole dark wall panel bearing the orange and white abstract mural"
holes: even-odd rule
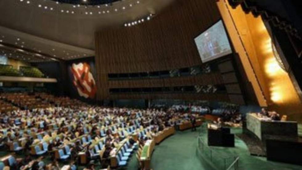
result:
[[[96,68],[94,57],[67,61],[70,96],[85,102],[96,101]]]

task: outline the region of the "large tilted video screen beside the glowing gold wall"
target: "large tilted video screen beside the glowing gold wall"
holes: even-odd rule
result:
[[[202,63],[232,53],[222,20],[218,21],[194,40]]]

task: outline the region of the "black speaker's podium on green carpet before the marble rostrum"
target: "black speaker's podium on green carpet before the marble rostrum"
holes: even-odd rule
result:
[[[208,128],[208,145],[220,147],[235,147],[235,136],[230,128]]]

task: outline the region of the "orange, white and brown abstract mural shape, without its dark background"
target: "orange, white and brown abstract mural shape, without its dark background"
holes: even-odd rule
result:
[[[72,64],[71,72],[73,76],[73,85],[76,87],[79,95],[85,98],[94,98],[96,94],[96,82],[90,72],[90,65],[83,62]]]

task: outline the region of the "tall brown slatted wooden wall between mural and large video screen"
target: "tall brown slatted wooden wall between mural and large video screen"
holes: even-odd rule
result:
[[[213,0],[175,1],[148,22],[133,27],[121,26],[97,31],[95,61],[98,98],[115,97],[116,94],[109,95],[109,88],[118,86],[195,85],[206,84],[207,80],[210,82],[207,84],[220,84],[222,78],[216,74],[175,80],[108,81],[108,73],[152,72],[202,64],[194,38],[218,19],[220,14]],[[130,98],[132,95],[128,96]],[[144,98],[146,95],[136,97]]]

